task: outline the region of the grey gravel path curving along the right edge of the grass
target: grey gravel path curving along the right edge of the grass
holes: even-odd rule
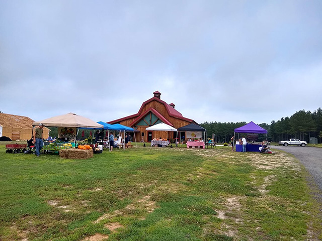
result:
[[[282,150],[294,155],[311,174],[313,181],[322,191],[322,148],[299,146],[272,146],[272,149]],[[319,195],[322,201],[322,196]]]

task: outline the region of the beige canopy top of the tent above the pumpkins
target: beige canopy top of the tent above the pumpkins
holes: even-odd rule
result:
[[[67,113],[57,115],[51,118],[43,119],[39,122],[34,122],[33,126],[43,124],[45,127],[76,127],[76,128],[98,128],[102,129],[103,126],[92,121],[91,119],[77,115],[75,113]]]

